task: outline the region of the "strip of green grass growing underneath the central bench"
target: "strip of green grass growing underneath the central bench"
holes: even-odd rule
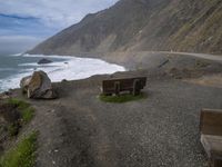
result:
[[[124,94],[124,95],[119,95],[119,96],[105,96],[105,95],[100,95],[99,96],[101,101],[104,102],[114,102],[114,104],[123,104],[128,101],[135,101],[135,100],[141,100],[147,98],[145,94],[140,94],[138,96],[133,96],[131,94]]]

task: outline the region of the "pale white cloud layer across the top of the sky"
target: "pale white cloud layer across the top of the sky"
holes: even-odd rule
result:
[[[118,0],[0,0],[0,13],[39,18],[48,27],[68,27],[87,13],[97,12]]]

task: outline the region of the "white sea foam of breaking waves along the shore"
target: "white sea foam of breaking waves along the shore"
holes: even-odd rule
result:
[[[46,56],[30,56],[24,57],[46,57]],[[22,63],[19,66],[33,67],[24,69],[17,75],[10,76],[3,80],[0,80],[2,90],[10,88],[18,88],[21,78],[30,76],[34,70],[43,70],[48,73],[53,82],[67,80],[78,80],[91,77],[93,75],[113,73],[115,71],[124,71],[125,69],[121,66],[108,63],[100,59],[91,58],[77,58],[77,57],[60,57],[60,56],[48,56],[48,58],[63,59],[60,62],[52,62],[47,65],[38,63]]]

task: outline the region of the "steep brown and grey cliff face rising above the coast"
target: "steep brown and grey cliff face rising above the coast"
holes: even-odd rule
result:
[[[120,0],[29,53],[129,50],[222,53],[222,0]]]

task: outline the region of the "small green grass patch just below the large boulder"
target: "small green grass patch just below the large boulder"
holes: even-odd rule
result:
[[[21,119],[24,124],[28,124],[34,116],[34,109],[30,106],[30,104],[11,98],[8,101],[11,105],[16,105],[21,114]]]

